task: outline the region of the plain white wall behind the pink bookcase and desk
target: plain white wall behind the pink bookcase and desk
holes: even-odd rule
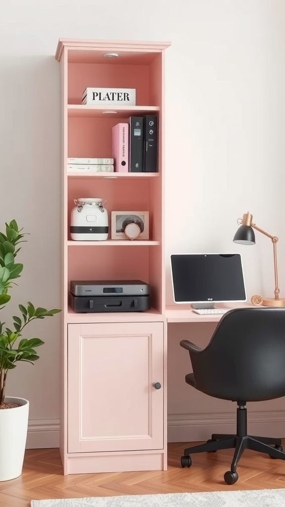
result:
[[[236,219],[249,210],[260,227],[280,237],[279,285],[285,296],[285,4],[175,0],[165,6],[163,0],[0,5],[0,230],[16,218],[30,233],[21,252],[25,270],[13,290],[15,311],[27,300],[59,305],[59,65],[54,59],[59,38],[172,42],[166,54],[167,269],[170,252],[240,251],[248,295],[271,296],[270,240],[259,234],[253,247],[237,249],[232,243]],[[171,303],[169,277],[167,288]],[[46,342],[41,359],[10,373],[8,394],[30,400],[30,445],[56,445],[59,318],[36,322],[31,331]],[[175,334],[170,329],[169,376],[180,389]],[[182,404],[190,403],[189,393],[184,394],[180,406],[170,396],[174,419],[189,412]]]

